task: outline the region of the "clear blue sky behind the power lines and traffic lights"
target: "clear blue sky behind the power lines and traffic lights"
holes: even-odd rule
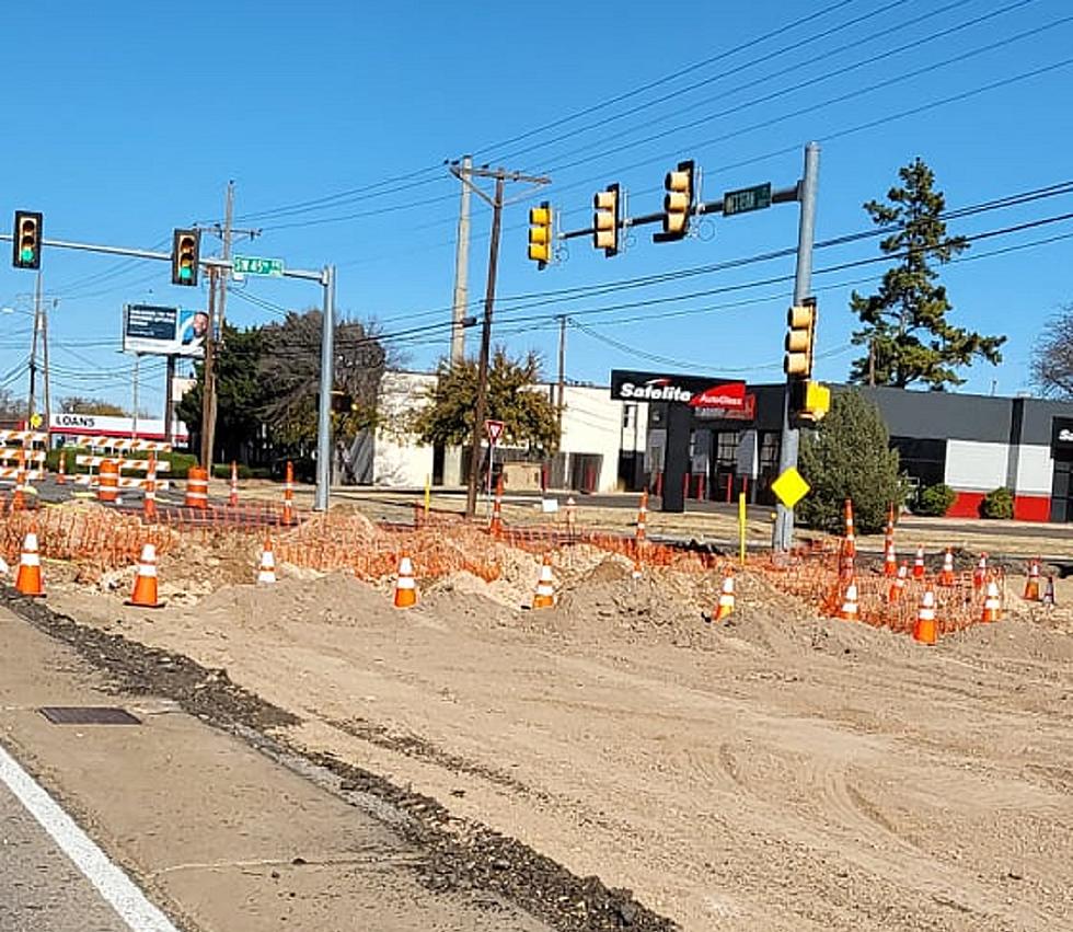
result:
[[[716,218],[676,244],[653,244],[651,228],[637,230],[633,248],[613,260],[576,240],[568,261],[544,272],[524,257],[526,211],[546,196],[567,228],[588,226],[592,193],[618,181],[631,212],[649,212],[665,171],[690,157],[704,170],[706,199],[764,181],[785,186],[800,174],[809,139],[822,145],[818,240],[867,228],[862,203],[884,195],[916,156],[935,170],[949,208],[1073,180],[1073,67],[973,93],[1071,58],[1068,0],[845,0],[781,31],[833,5],[18,4],[4,11],[0,44],[8,74],[0,216],[10,225],[14,209],[39,209],[47,237],[163,248],[173,227],[220,219],[233,179],[236,226],[263,230],[238,252],[295,267],[335,263],[339,309],[374,318],[388,333],[445,324],[404,346],[412,368],[430,368],[448,346],[454,275],[459,188],[442,163],[472,152],[477,163],[554,182],[540,194],[510,188],[521,199],[505,212],[498,342],[540,350],[554,377],[554,315],[566,313],[586,327],[568,333],[570,379],[607,383],[611,368],[632,367],[778,380],[792,285],[749,286],[791,275],[792,258],[555,296],[528,310],[516,298],[791,246],[796,206]],[[891,118],[958,95],[966,96]],[[531,135],[509,141],[523,134]],[[402,181],[383,184],[392,177]],[[319,198],[328,199],[313,210],[269,212]],[[950,231],[974,235],[1071,211],[1073,196],[1050,197],[957,220]],[[483,295],[488,220],[474,199],[471,300]],[[1062,235],[1073,237],[1073,220],[981,240],[967,253],[972,261],[944,269],[951,320],[1009,337],[1002,366],[969,369],[962,391],[990,392],[992,380],[1004,394],[1028,387],[1032,343],[1071,299],[1073,239],[1026,244]],[[217,246],[207,239],[203,249]],[[817,251],[816,268],[877,254],[875,240],[828,248]],[[855,287],[867,291],[882,268],[816,275],[821,378],[842,380],[853,356],[844,349],[855,320],[846,283],[864,279]],[[53,250],[44,271],[55,303],[56,398],[129,403],[122,306],[205,302],[204,288],[171,286],[162,263]],[[16,394],[26,390],[33,278],[0,262],[0,308],[10,309],[0,314],[0,378]],[[747,287],[718,290],[734,286]],[[708,294],[683,297],[695,292]],[[309,283],[259,279],[232,291],[228,317],[255,324],[273,320],[272,308],[316,301]],[[476,338],[471,332],[469,350]],[[162,369],[160,360],[142,363],[141,403],[154,413]]]

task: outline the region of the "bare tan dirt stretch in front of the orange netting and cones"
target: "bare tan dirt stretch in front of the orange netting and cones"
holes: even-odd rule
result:
[[[601,560],[562,559],[541,612],[529,559],[405,612],[344,574],[151,612],[56,566],[48,600],[691,932],[1073,929],[1073,580],[925,648],[749,574],[713,625],[718,580]]]

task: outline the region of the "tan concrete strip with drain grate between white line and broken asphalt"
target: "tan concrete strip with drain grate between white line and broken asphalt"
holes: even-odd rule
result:
[[[430,893],[409,866],[420,852],[383,822],[174,703],[104,687],[66,645],[0,609],[0,745],[176,924],[200,932],[550,932],[487,894]],[[37,711],[43,705],[118,705],[142,724],[54,725]],[[8,803],[25,837],[26,819]],[[38,859],[55,864],[38,842]],[[4,918],[8,905],[20,908],[4,885],[20,876],[16,866],[25,868],[8,859],[30,850],[28,841],[0,848],[0,929],[41,928],[34,916]],[[70,889],[71,865],[62,855],[60,863],[62,872],[43,873]],[[49,932],[81,932],[86,918],[72,910],[71,924]]]

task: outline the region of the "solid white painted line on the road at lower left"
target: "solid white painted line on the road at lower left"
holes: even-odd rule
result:
[[[0,746],[0,780],[132,932],[178,932],[130,878]]]

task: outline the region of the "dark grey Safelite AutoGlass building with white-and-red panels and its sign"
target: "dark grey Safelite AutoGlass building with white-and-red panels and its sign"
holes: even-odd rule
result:
[[[645,470],[667,510],[680,510],[685,498],[729,500],[739,492],[752,502],[773,500],[782,384],[746,388],[718,377],[624,370],[612,372],[611,381],[613,398],[650,401]],[[878,405],[911,483],[955,490],[950,516],[978,517],[983,497],[1006,487],[1017,519],[1073,520],[1073,403],[861,391]]]

